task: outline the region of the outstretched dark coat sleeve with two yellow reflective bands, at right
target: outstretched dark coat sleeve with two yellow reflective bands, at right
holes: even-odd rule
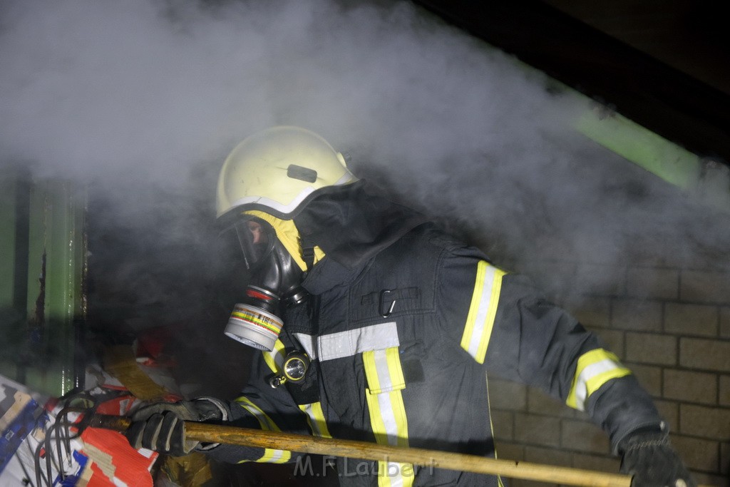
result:
[[[494,375],[541,388],[583,410],[610,437],[662,425],[631,371],[566,310],[521,275],[493,266],[477,250],[445,251],[437,299],[442,331]]]

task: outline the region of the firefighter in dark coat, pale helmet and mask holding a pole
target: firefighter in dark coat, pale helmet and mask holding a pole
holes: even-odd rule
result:
[[[317,134],[278,126],[228,156],[221,237],[247,277],[225,332],[256,353],[231,401],[152,404],[135,447],[220,461],[295,452],[185,440],[182,420],[494,458],[488,380],[541,388],[585,411],[634,486],[694,486],[631,371],[521,275],[496,266],[347,169]],[[499,486],[497,477],[337,459],[343,485]]]

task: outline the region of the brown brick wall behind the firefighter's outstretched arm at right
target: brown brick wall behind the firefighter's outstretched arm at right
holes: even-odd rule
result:
[[[602,337],[656,400],[696,480],[730,486],[730,272],[536,265],[526,273],[542,276],[550,297]],[[496,377],[490,396],[500,458],[618,472],[606,435],[584,413]]]

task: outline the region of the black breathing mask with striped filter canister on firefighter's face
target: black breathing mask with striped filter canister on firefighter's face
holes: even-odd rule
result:
[[[307,299],[301,287],[303,272],[260,218],[241,218],[221,231],[224,245],[242,253],[250,274],[244,296],[231,312],[225,333],[259,350],[274,350],[283,320],[283,308]],[[240,250],[238,250],[240,249]],[[240,254],[239,254],[240,256]]]

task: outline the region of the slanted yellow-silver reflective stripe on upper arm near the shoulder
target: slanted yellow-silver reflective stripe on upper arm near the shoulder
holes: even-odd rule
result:
[[[502,290],[502,276],[505,274],[507,272],[497,269],[486,261],[477,264],[477,278],[469,314],[466,316],[464,334],[461,337],[461,348],[480,364],[484,363],[487,354],[487,345],[499,304],[499,293]]]

